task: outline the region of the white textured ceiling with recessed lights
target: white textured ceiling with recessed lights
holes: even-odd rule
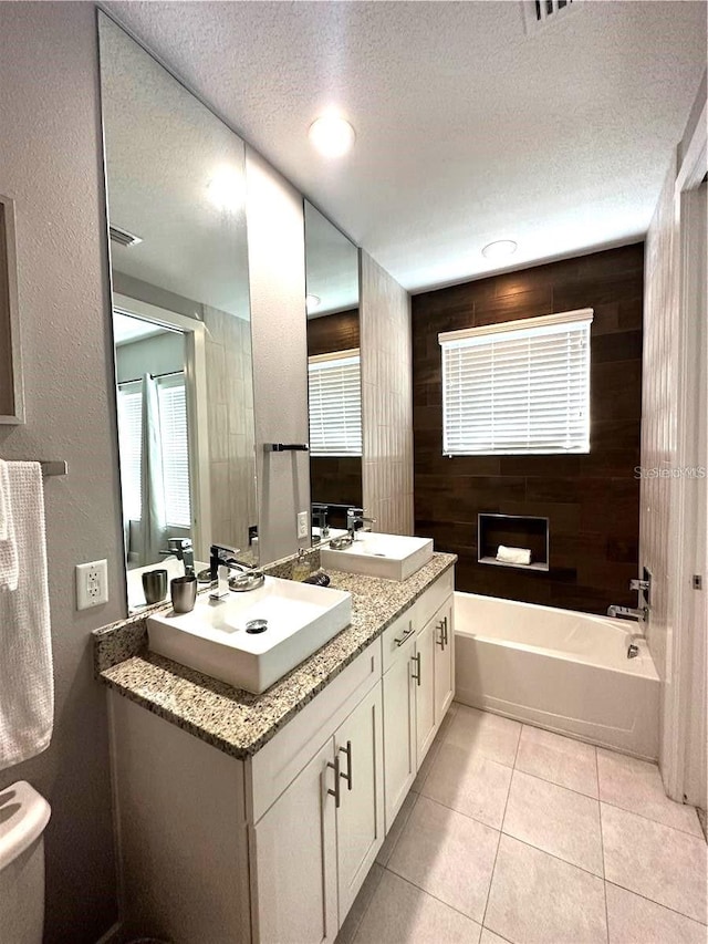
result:
[[[648,226],[706,65],[705,2],[111,2],[107,9],[409,290]],[[306,132],[339,107],[353,152]]]

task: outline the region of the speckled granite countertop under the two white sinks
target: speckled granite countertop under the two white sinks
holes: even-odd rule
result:
[[[145,615],[94,633],[98,677],[125,697],[232,757],[256,754],[457,560],[433,560],[400,583],[327,570],[352,594],[352,624],[261,695],[149,652]],[[113,663],[113,664],[111,664]]]

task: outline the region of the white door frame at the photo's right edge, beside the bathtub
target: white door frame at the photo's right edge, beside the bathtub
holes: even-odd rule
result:
[[[708,328],[696,318],[699,280],[705,279],[705,262],[701,266],[698,261],[698,247],[701,241],[705,246],[705,236],[699,230],[699,227],[705,227],[705,210],[701,209],[698,189],[708,172],[707,120],[707,106],[704,104],[674,188],[675,303],[678,311],[676,464],[679,468],[708,466],[708,455],[697,456],[695,445],[696,422],[701,401],[700,385],[706,383],[706,378],[700,377],[700,372],[697,374],[696,371],[697,349],[701,347],[704,355],[708,357]],[[705,391],[702,401],[706,402]],[[696,749],[695,740],[700,740],[701,737],[705,739],[706,732],[708,573],[704,571],[701,574],[702,590],[694,589],[693,578],[696,573],[696,561],[699,559],[697,542],[708,541],[708,538],[706,529],[701,532],[700,527],[697,529],[696,526],[699,508],[696,481],[681,476],[674,480],[674,486],[669,533],[673,570],[669,575],[670,624],[674,632],[668,652],[667,678],[670,684],[664,709],[663,776],[671,799],[691,802],[705,809],[705,780],[702,785],[695,782],[688,760],[691,750]],[[705,484],[702,487],[706,487]],[[704,562],[706,550],[702,549]],[[700,601],[696,600],[697,593],[701,594]],[[696,614],[698,620],[695,619]],[[704,712],[698,728],[695,718],[696,703]]]

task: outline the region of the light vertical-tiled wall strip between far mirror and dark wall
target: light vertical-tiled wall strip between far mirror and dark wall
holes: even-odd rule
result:
[[[374,529],[413,535],[410,297],[361,252],[364,508]]]

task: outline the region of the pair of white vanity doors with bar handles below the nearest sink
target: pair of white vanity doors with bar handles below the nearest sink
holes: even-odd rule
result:
[[[260,944],[334,941],[384,840],[376,683],[256,824]]]

